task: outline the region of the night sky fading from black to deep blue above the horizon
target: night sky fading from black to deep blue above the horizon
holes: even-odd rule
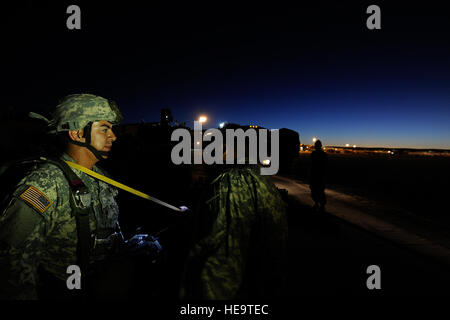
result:
[[[442,4],[191,2],[3,6],[2,109],[87,92],[117,101],[125,123],[170,108],[190,127],[205,114],[207,127],[284,127],[302,143],[450,149]],[[81,30],[66,28],[70,4]],[[381,30],[366,27],[371,4]]]

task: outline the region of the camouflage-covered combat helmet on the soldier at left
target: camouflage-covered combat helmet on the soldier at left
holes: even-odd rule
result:
[[[61,132],[80,130],[89,122],[100,120],[118,124],[122,119],[114,101],[83,93],[63,98],[52,113],[51,125],[56,132]]]

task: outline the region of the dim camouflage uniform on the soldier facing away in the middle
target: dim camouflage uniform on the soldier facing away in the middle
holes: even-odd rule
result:
[[[278,190],[257,166],[228,170],[212,187],[198,221],[205,236],[189,254],[181,298],[280,296],[287,218]]]

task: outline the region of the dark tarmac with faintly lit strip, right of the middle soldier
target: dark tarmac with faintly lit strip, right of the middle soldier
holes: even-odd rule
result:
[[[312,210],[308,185],[273,181],[290,201],[289,296],[447,295],[445,226],[333,190],[321,214]],[[372,265],[380,268],[379,290],[367,286]]]

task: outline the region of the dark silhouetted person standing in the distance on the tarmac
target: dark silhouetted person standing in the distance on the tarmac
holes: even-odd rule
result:
[[[327,165],[327,154],[322,150],[322,142],[317,140],[314,144],[315,151],[311,154],[311,174],[309,187],[311,197],[314,200],[316,211],[325,211],[325,171]]]

